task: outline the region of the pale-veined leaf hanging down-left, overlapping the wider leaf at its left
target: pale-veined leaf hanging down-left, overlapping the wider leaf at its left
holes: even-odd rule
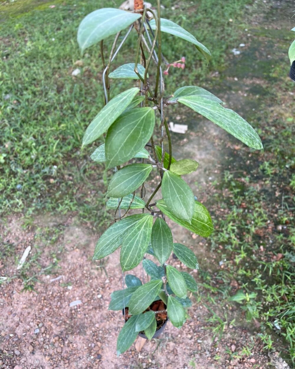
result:
[[[142,261],[149,245],[153,216],[142,215],[142,219],[131,228],[122,242],[120,264],[123,272],[135,268]]]

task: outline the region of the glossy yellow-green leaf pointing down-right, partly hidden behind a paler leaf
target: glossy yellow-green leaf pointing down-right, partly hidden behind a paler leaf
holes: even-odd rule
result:
[[[201,237],[208,237],[213,231],[210,214],[205,206],[198,201],[195,201],[195,211],[194,215],[192,215],[191,224],[172,214],[163,199],[157,201],[157,207],[175,223],[187,228]]]

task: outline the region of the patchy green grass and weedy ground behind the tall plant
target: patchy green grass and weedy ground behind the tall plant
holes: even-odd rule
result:
[[[111,6],[120,3],[114,1]],[[194,178],[196,193],[212,209],[215,220],[216,231],[209,240],[192,241],[189,234],[186,236],[188,245],[198,242],[194,247],[201,270],[196,304],[207,309],[208,320],[203,323],[211,326],[216,347],[220,334],[229,327],[239,334],[235,326],[248,324],[253,337],[258,335],[266,350],[281,351],[291,367],[295,355],[295,177],[290,173],[295,153],[294,94],[290,94],[294,83],[287,76],[287,49],[292,39],[288,32],[293,27],[292,9],[288,1],[225,1],[220,7],[214,6],[213,0],[198,5],[173,1],[175,10],[170,3],[163,1],[164,16],[194,30],[192,33],[213,51],[213,62],[207,67],[197,54],[185,55],[187,69],[183,74],[180,70],[171,72],[168,93],[173,93],[180,79],[180,85],[195,85],[198,80],[253,123],[265,149],[261,156],[212,128],[211,123],[187,116],[185,109],[177,119],[171,108],[170,120],[177,119],[189,128],[184,137],[173,134],[174,142],[179,142],[176,157],[182,158],[185,152],[200,162]],[[42,225],[36,225],[39,212],[58,217],[71,214],[99,232],[111,219],[104,210],[109,173],[90,161],[91,149],[80,151],[84,129],[101,108],[102,67],[97,49],[83,57],[82,67],[75,65],[81,58],[75,39],[81,18],[110,4],[50,4],[56,7],[49,8],[44,1],[27,1],[20,6],[15,1],[0,10],[6,25],[0,34],[1,212],[7,217],[19,212],[32,240],[37,235],[37,243],[28,240],[28,244],[39,246],[33,248],[17,275],[21,288],[28,292],[37,289],[45,273],[57,273],[66,254],[59,237],[68,218],[58,224],[44,219]],[[10,19],[6,20],[8,12]],[[208,32],[212,24],[219,29],[213,35]],[[133,41],[134,36],[116,65],[132,61]],[[240,47],[240,55],[233,56],[230,50],[239,48],[240,43],[246,46]],[[183,56],[183,47],[182,41],[173,39],[171,49],[163,46],[165,56],[173,61]],[[73,77],[76,68],[80,74]],[[117,92],[114,89],[113,93]],[[1,261],[13,265],[22,247],[4,239]],[[49,251],[51,245],[54,247]],[[257,345],[256,338],[252,339]],[[220,365],[242,365],[254,352],[251,345],[254,343],[249,338],[239,351],[231,348],[221,356],[216,354],[213,362],[219,365],[222,358]],[[187,365],[194,367],[198,360],[196,351]]]

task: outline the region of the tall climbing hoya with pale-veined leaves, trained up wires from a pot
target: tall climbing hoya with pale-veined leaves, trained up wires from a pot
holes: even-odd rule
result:
[[[156,337],[168,319],[180,328],[187,316],[185,308],[191,306],[187,293],[197,291],[190,273],[167,263],[173,252],[187,268],[198,268],[194,252],[173,242],[166,220],[201,237],[208,237],[213,231],[208,210],[183,179],[197,170],[198,163],[190,158],[173,157],[166,111],[171,105],[185,105],[192,114],[203,115],[250,148],[263,148],[251,125],[223,107],[223,102],[211,92],[200,86],[169,89],[169,68],[183,69],[185,57],[176,61],[165,59],[161,46],[167,39],[163,34],[183,39],[184,48],[191,44],[194,47],[190,52],[201,53],[206,62],[210,61],[211,53],[190,32],[160,17],[160,0],[155,5],[156,9],[146,8],[143,1],[135,0],[133,11],[98,9],[81,21],[77,35],[82,53],[90,46],[100,46],[104,69],[104,107],[87,127],[82,145],[97,139],[103,141],[91,159],[104,162],[113,174],[106,205],[114,210],[114,223],[98,239],[93,259],[103,259],[120,248],[123,275],[140,263],[148,275],[144,281],[145,274],[142,280],[126,274],[124,288],[111,294],[109,309],[123,315],[118,355],[132,345],[138,334],[148,339]],[[114,69],[113,61],[131,32],[137,34],[134,59]],[[106,57],[104,42],[111,35],[115,39]],[[111,83],[116,80],[121,87],[124,81],[133,87],[123,88],[113,96]],[[149,180],[156,178],[156,174],[159,183],[152,190]],[[160,192],[162,198],[158,200]]]

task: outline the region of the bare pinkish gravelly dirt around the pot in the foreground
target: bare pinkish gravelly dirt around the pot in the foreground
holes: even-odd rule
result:
[[[25,247],[34,245],[35,230],[44,220],[38,218],[28,232],[14,218],[2,225],[1,232],[20,255]],[[218,338],[212,340],[206,323],[208,311],[196,301],[188,310],[190,318],[183,329],[177,330],[169,322],[159,340],[146,341],[140,352],[133,345],[117,358],[116,340],[123,320],[119,312],[107,308],[111,292],[122,286],[119,254],[111,255],[101,268],[90,258],[97,236],[75,218],[46,217],[46,224],[51,228],[62,225],[64,231],[51,250],[44,249],[34,291],[22,292],[24,285],[17,276],[14,257],[1,269],[1,275],[15,276],[0,288],[1,368],[266,368],[267,353],[253,332],[243,326],[226,326],[216,345]],[[202,242],[191,238],[191,242],[197,241]],[[52,252],[60,259],[55,276],[46,275],[44,270],[52,262]],[[173,263],[183,269],[180,263]],[[138,267],[135,274],[140,277],[141,273]],[[70,307],[76,300],[81,303]],[[253,355],[230,361],[229,353],[245,345],[255,345]]]

